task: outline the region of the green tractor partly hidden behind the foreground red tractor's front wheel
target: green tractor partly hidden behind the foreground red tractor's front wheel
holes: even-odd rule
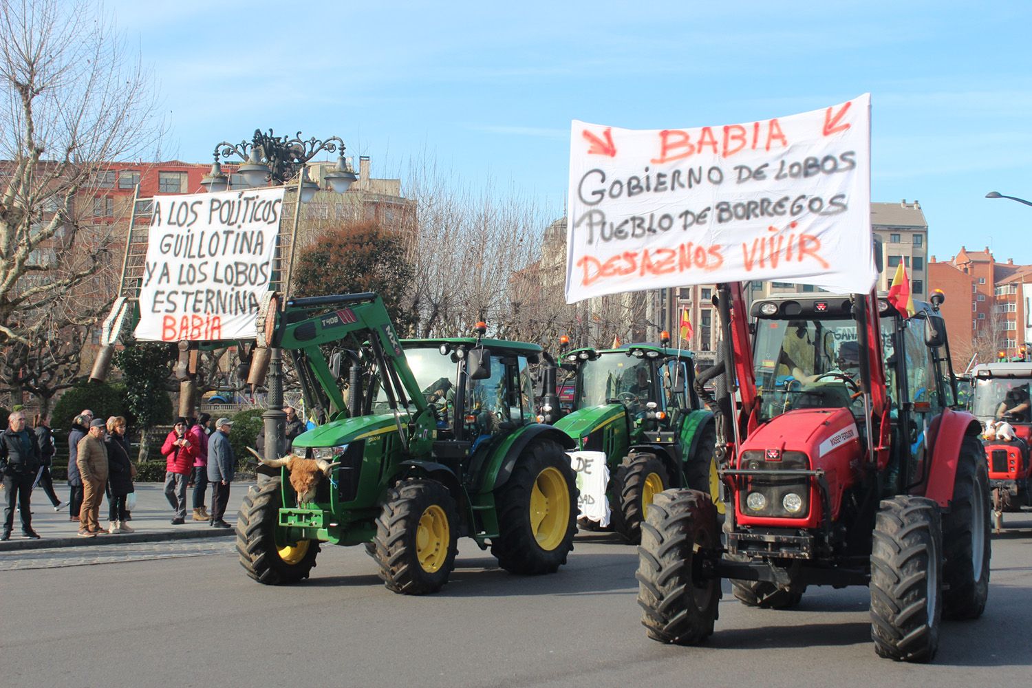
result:
[[[578,450],[606,455],[610,481],[606,496],[612,527],[627,542],[641,539],[641,524],[652,497],[672,487],[711,493],[719,481],[713,448],[716,429],[692,389],[691,352],[659,345],[631,343],[619,349],[577,349],[562,354],[562,369],[573,373],[573,411],[554,426]],[[554,387],[546,369],[546,390]],[[546,421],[558,400],[546,397]],[[582,527],[598,528],[584,518]]]

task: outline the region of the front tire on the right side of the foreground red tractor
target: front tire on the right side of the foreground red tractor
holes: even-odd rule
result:
[[[871,550],[871,637],[890,659],[927,662],[939,647],[942,531],[925,497],[883,499]]]

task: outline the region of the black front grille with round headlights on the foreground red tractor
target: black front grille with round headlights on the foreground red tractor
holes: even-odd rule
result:
[[[810,481],[806,476],[779,476],[778,470],[807,470],[809,459],[803,452],[781,453],[780,461],[768,461],[767,453],[749,451],[742,453],[740,467],[744,470],[761,471],[760,474],[745,476],[739,483],[738,507],[745,516],[769,518],[805,518],[810,512]],[[764,474],[769,473],[769,474]],[[762,509],[750,509],[748,496],[759,492],[766,498]],[[783,506],[784,496],[795,493],[802,499],[799,512],[792,514]]]

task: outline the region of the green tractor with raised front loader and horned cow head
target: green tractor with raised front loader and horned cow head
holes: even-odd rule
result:
[[[540,347],[483,338],[482,324],[476,337],[399,340],[370,293],[296,298],[271,318],[269,346],[290,356],[326,422],[244,500],[236,545],[251,578],[308,578],[323,543],[365,545],[387,588],[406,594],[445,585],[459,536],[515,574],[566,563],[574,443],[536,422]]]

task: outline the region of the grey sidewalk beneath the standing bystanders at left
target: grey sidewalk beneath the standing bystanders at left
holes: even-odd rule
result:
[[[229,492],[229,505],[226,507],[226,522],[236,525],[236,512],[240,500],[247,494],[254,482],[233,483]],[[68,486],[55,486],[61,499],[68,498]],[[39,533],[40,539],[29,539],[22,535],[22,521],[14,513],[14,527],[10,539],[0,542],[0,553],[11,550],[39,550],[54,547],[90,547],[94,545],[116,545],[119,543],[156,543],[170,539],[189,539],[194,537],[232,537],[235,530],[229,528],[213,528],[207,521],[192,521],[193,489],[187,490],[187,522],[183,525],[172,525],[172,509],[168,504],[160,483],[136,484],[136,506],[132,510],[132,521],[129,527],[134,532],[103,534],[96,537],[79,537],[78,523],[68,520],[68,505],[64,504],[60,512],[55,513],[51,500],[40,488],[32,491],[32,527]],[[6,499],[6,494],[0,491]],[[207,491],[207,506],[212,505],[212,491]],[[107,497],[100,502],[100,526],[107,527]]]

